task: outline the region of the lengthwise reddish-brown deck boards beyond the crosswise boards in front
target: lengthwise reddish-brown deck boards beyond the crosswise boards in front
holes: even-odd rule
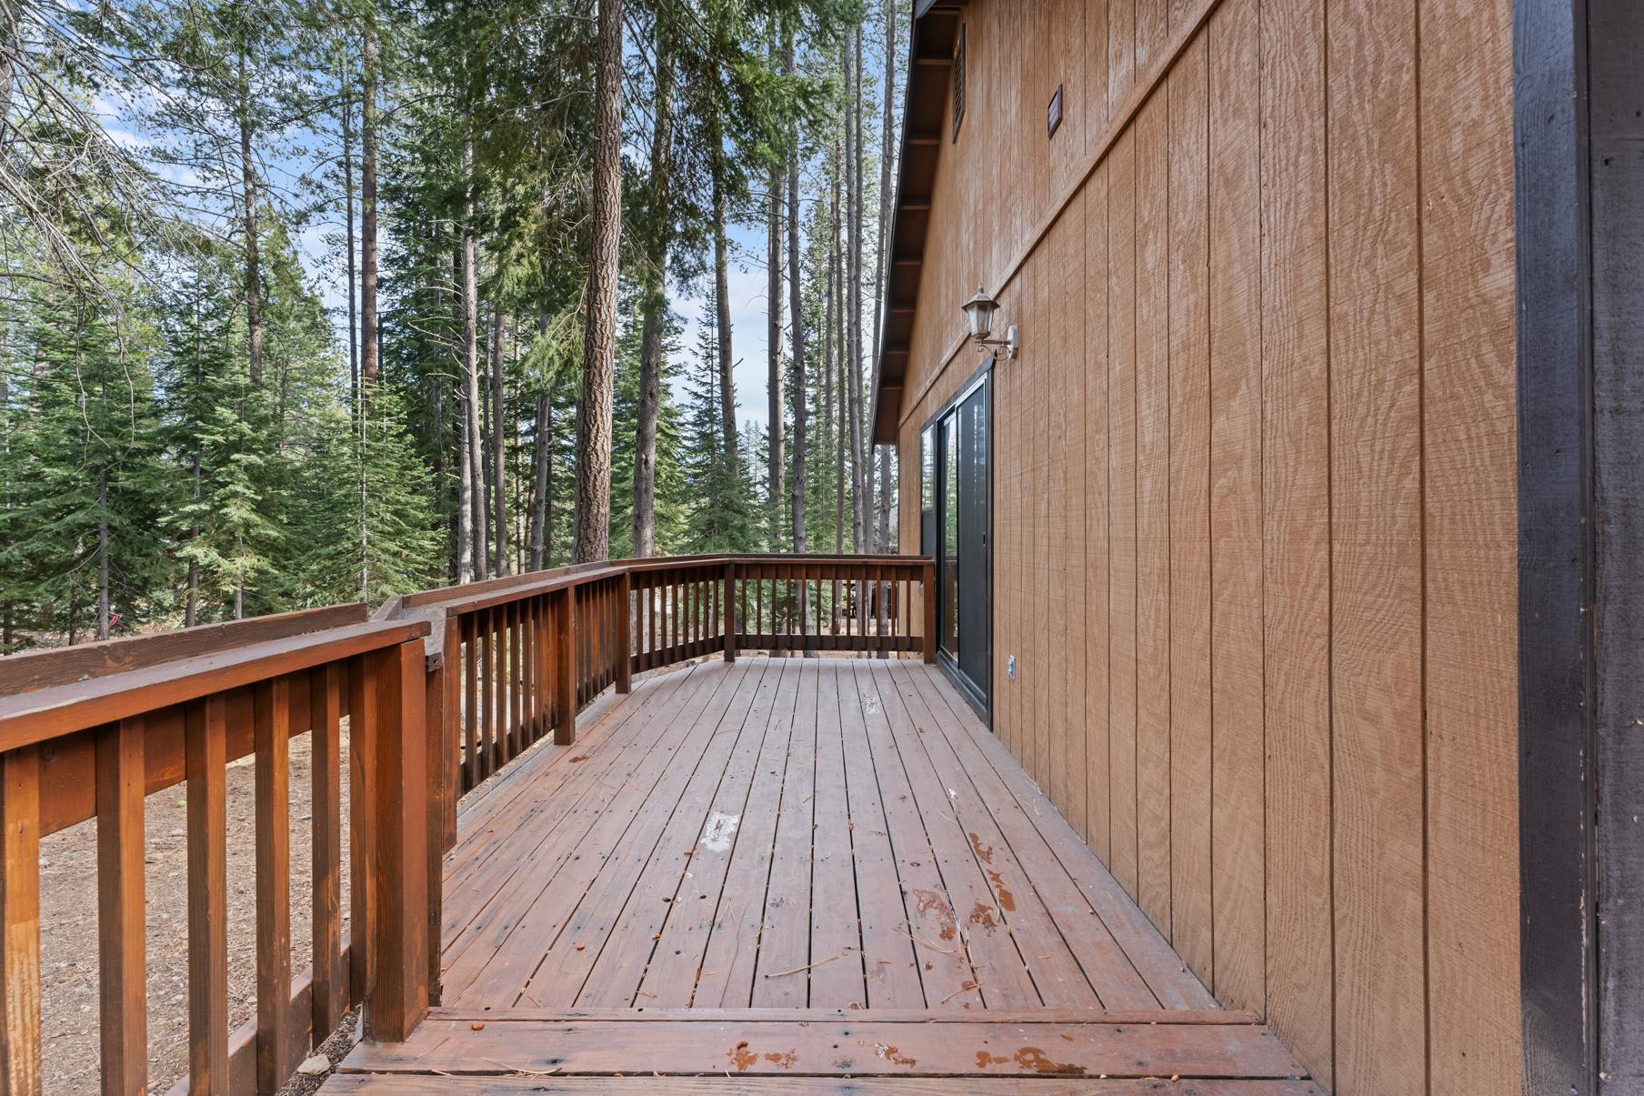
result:
[[[922,665],[651,675],[574,749],[462,811],[452,1005],[1213,1005]]]

